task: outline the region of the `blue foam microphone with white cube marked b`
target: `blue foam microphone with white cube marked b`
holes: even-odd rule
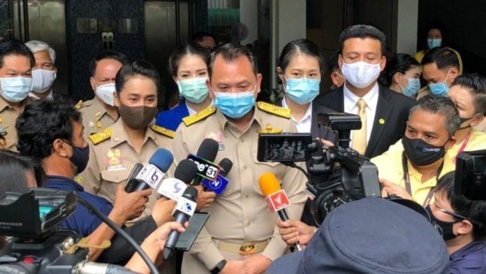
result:
[[[165,148],[156,150],[150,157],[149,164],[144,165],[135,177],[140,182],[135,191],[148,189],[149,187],[156,189],[165,177],[165,172],[168,171],[172,161],[174,161],[174,156],[168,150],[165,150]]]

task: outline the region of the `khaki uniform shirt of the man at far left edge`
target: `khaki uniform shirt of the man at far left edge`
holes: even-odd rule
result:
[[[0,96],[0,127],[3,128],[1,131],[6,131],[5,144],[2,144],[6,150],[17,151],[17,130],[15,129],[15,120],[19,117],[20,113],[24,111],[25,106],[31,103],[30,99],[24,99],[20,103],[20,112],[17,112],[14,108],[8,105],[7,101]],[[3,140],[1,140],[3,142]]]

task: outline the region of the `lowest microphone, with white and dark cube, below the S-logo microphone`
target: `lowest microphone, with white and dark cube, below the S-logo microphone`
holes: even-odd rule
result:
[[[174,217],[174,221],[182,224],[189,221],[191,216],[196,211],[196,199],[198,198],[198,190],[194,187],[187,187],[182,196],[177,201],[175,206],[174,212],[172,216]],[[164,245],[163,250],[163,258],[168,259],[172,256],[172,252],[174,250],[175,244],[177,240],[179,240],[180,233],[177,230],[170,231],[169,237]]]

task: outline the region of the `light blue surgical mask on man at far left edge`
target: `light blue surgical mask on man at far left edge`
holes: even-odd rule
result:
[[[32,78],[6,77],[0,78],[1,96],[7,101],[18,103],[29,96],[32,90]]]

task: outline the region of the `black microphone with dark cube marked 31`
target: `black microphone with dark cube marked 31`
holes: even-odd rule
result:
[[[207,138],[202,140],[196,155],[189,154],[187,156],[187,159],[198,165],[198,176],[193,180],[191,185],[200,185],[202,178],[207,178],[212,181],[216,180],[220,168],[218,165],[214,164],[213,161],[216,159],[218,150],[218,142],[211,138]]]

